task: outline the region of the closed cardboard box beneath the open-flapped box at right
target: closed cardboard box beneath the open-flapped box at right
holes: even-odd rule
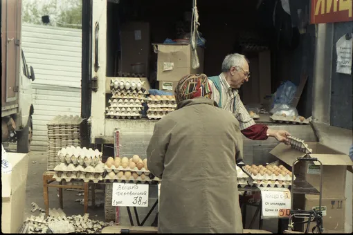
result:
[[[345,229],[345,203],[346,199],[338,198],[322,198],[321,211],[323,212],[323,227],[324,231],[344,231]],[[296,207],[305,210],[318,210],[319,200],[317,195],[305,195],[305,200],[297,201]],[[311,223],[309,233],[314,227]],[[302,229],[305,229],[302,227]],[[304,230],[302,230],[304,231]]]

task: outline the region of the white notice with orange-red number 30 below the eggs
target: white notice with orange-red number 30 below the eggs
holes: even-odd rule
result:
[[[262,188],[262,216],[284,218],[290,216],[291,192],[289,189]]]

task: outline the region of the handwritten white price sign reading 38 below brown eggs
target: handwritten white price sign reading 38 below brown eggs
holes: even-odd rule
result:
[[[150,185],[113,183],[111,205],[114,207],[148,207]]]

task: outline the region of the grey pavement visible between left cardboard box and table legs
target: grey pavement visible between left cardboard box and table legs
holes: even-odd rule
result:
[[[28,177],[26,187],[26,208],[24,219],[31,215],[37,216],[39,212],[30,212],[32,209],[31,203],[37,203],[39,207],[45,209],[44,198],[43,198],[43,173],[46,171],[46,152],[42,151],[31,151],[29,153],[29,164],[28,164]],[[34,163],[35,162],[35,163]],[[81,191],[63,191],[63,211],[66,216],[72,215],[83,215],[83,205],[75,202],[75,199],[83,199],[83,196],[76,196]],[[82,191],[83,193],[83,191]],[[55,188],[49,188],[49,207],[59,208],[59,191]],[[91,195],[90,195],[91,196]],[[98,200],[104,201],[104,194],[102,191],[96,191],[96,202]],[[93,220],[105,221],[104,206],[101,207],[89,207],[88,209],[89,218]]]

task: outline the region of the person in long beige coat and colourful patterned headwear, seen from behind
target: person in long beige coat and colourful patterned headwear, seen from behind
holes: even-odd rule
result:
[[[210,94],[206,75],[183,77],[177,110],[154,126],[147,165],[162,179],[159,233],[242,233],[235,167],[242,133]]]

